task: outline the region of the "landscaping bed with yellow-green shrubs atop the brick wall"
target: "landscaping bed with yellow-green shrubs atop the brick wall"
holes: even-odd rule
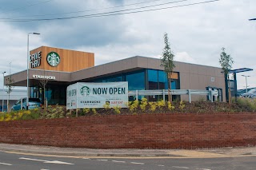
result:
[[[20,110],[11,113],[0,113],[0,121],[16,121],[30,119],[51,119],[63,117],[90,117],[104,115],[138,115],[154,113],[255,113],[256,100],[241,98],[232,100],[229,105],[226,102],[194,101],[154,101],[149,102],[146,99],[142,101],[129,102],[128,108],[118,107],[110,108],[105,105],[102,109],[78,109],[66,110],[65,106],[49,106],[47,109]]]

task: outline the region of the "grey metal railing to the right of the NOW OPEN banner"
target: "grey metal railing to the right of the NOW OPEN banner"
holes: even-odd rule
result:
[[[210,101],[214,101],[214,96],[218,97],[218,91],[215,90],[201,90],[201,89],[172,89],[170,90],[172,95],[188,95],[191,103],[191,95],[203,95],[208,96]],[[128,96],[134,96],[138,99],[138,96],[155,96],[162,95],[163,101],[165,101],[165,95],[168,95],[168,89],[152,89],[152,90],[132,90],[128,92]]]

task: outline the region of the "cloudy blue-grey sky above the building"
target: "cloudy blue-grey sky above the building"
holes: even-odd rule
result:
[[[142,12],[138,12],[142,11]],[[104,16],[101,16],[104,15]],[[0,0],[0,71],[26,69],[42,45],[92,52],[95,65],[133,56],[160,58],[168,34],[174,61],[220,67],[233,57],[238,89],[256,87],[255,0]],[[255,62],[255,63],[254,63]],[[2,88],[2,78],[0,78]]]

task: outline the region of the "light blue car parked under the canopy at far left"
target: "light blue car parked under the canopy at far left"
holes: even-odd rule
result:
[[[28,109],[36,109],[38,107],[42,107],[42,103],[38,98],[29,98],[29,107]],[[20,100],[16,101],[14,105],[11,107],[11,110],[20,110],[26,109],[26,97],[21,98]]]

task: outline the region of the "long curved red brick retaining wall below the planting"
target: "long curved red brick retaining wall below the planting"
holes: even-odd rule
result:
[[[0,122],[0,142],[82,148],[256,145],[256,114],[145,114]]]

